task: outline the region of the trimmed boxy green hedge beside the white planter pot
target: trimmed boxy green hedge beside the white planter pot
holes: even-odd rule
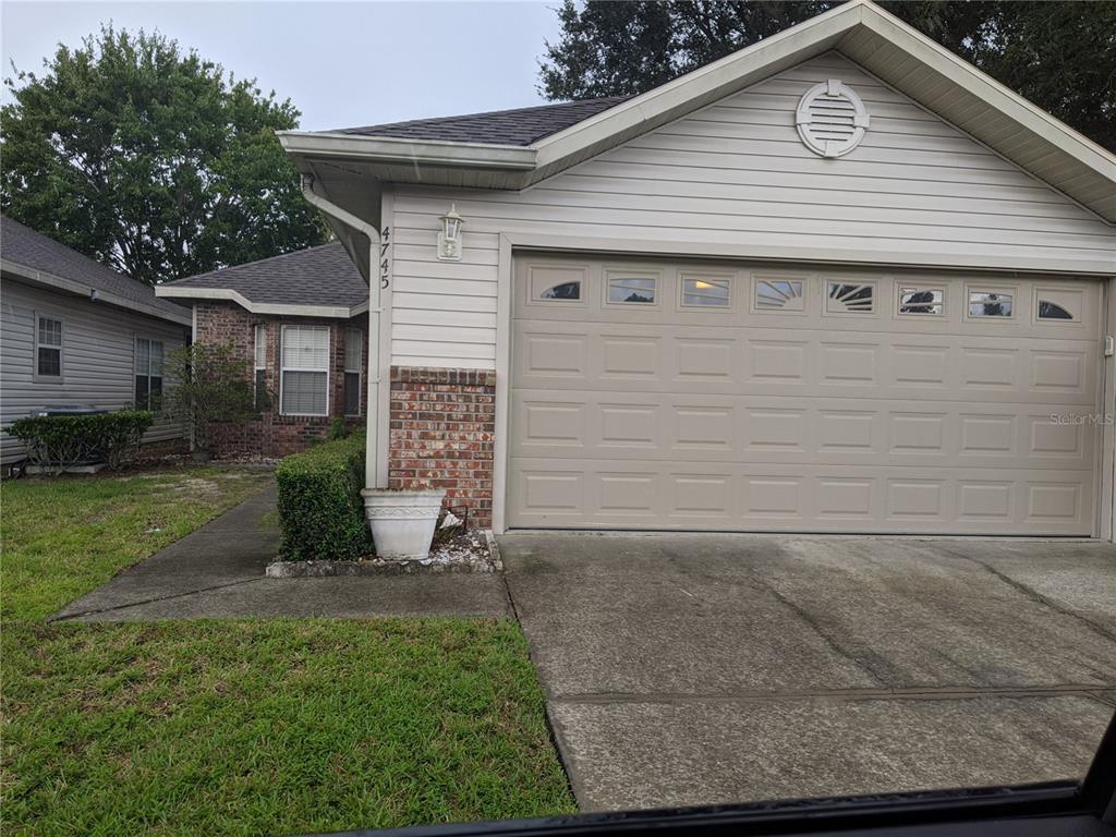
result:
[[[372,554],[360,498],[363,434],[283,458],[276,481],[282,560],[353,560]]]

